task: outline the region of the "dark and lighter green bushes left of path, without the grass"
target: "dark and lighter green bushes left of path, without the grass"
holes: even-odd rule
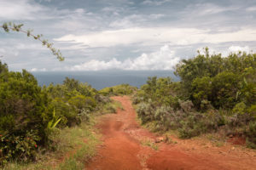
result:
[[[109,102],[87,83],[70,78],[41,88],[31,73],[9,71],[0,61],[0,166],[31,161],[38,147],[54,148],[49,135],[55,127],[89,121],[92,111]]]

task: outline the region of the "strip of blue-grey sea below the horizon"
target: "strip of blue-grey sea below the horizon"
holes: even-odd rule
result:
[[[88,82],[93,88],[102,89],[122,83],[140,88],[148,77],[172,77],[178,81],[173,71],[42,71],[32,72],[37,77],[39,85],[62,83],[65,77],[74,78],[80,82]]]

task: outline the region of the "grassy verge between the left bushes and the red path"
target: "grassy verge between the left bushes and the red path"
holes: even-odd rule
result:
[[[96,155],[100,136],[94,132],[94,122],[82,122],[79,126],[55,129],[49,135],[52,148],[38,148],[35,161],[9,161],[3,170],[81,170]],[[54,147],[53,147],[54,146]]]

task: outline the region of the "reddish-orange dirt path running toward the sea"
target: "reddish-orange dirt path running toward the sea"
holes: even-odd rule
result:
[[[215,147],[201,139],[154,144],[156,136],[137,124],[129,97],[113,99],[121,102],[124,110],[102,116],[97,127],[102,131],[103,144],[86,169],[256,169],[256,152],[238,146]]]

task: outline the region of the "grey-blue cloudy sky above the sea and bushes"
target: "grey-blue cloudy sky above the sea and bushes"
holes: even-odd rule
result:
[[[0,59],[13,71],[172,70],[206,46],[256,50],[255,0],[0,0],[0,11],[0,24],[44,34],[66,58],[0,30]]]

